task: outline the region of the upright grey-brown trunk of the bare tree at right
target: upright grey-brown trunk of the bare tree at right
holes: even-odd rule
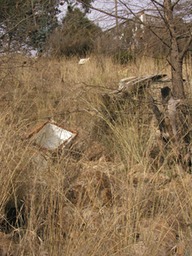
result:
[[[175,15],[176,7],[181,1],[164,0],[163,5],[155,0],[152,2],[157,8],[161,7],[163,10],[163,15],[161,16],[170,36],[169,63],[171,65],[173,96],[177,99],[182,99],[185,98],[182,66],[185,54],[192,42],[192,29],[187,26],[186,21],[177,19],[177,15]],[[185,27],[184,34],[181,34],[179,29],[179,21],[183,21],[183,26]],[[186,40],[184,43],[183,38]]]

